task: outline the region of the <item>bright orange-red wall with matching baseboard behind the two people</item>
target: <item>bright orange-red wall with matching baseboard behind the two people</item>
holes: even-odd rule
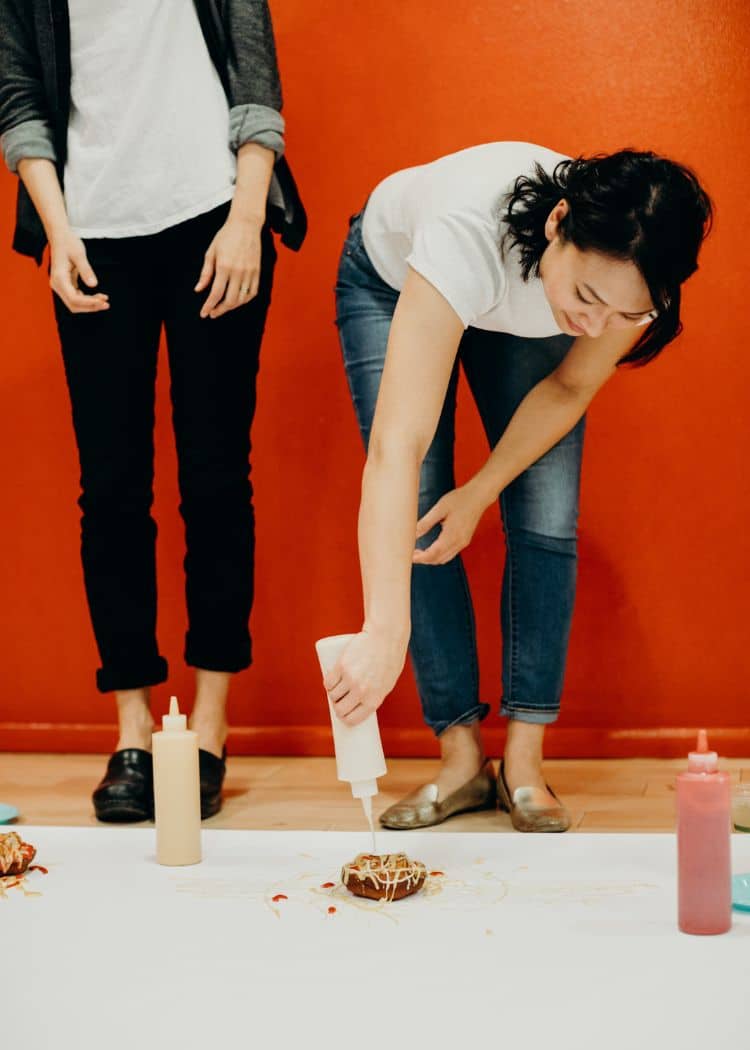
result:
[[[590,412],[580,590],[563,716],[549,753],[682,753],[708,723],[750,751],[747,249],[750,52],[746,0],[586,3],[272,2],[289,156],[311,231],[283,251],[254,430],[255,666],[232,698],[234,750],[326,753],[313,639],[356,629],[362,454],[333,324],[348,215],[389,172],[523,139],[568,153],[652,148],[693,165],[717,204],[684,296],[685,334],[618,376]],[[0,175],[0,748],[106,749],[113,706],[78,562],[78,469],[44,272],[8,248],[15,183]],[[182,527],[165,368],[159,380],[160,636],[182,666]],[[468,399],[459,477],[485,455]],[[497,516],[467,558],[483,698],[499,694]],[[381,713],[391,753],[431,753],[407,673]],[[499,747],[498,719],[485,723]]]

